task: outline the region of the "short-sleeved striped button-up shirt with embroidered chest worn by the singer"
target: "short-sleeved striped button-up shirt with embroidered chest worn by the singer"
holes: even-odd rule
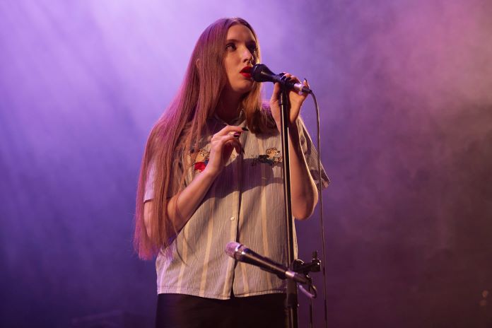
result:
[[[240,121],[235,125],[245,127],[245,120]],[[303,122],[298,122],[307,166],[317,182],[317,152]],[[205,168],[211,136],[223,127],[225,123],[221,119],[208,119],[206,137],[199,150],[188,155],[194,167],[187,172],[185,185]],[[156,260],[158,294],[180,293],[225,300],[230,298],[231,292],[237,297],[285,292],[285,284],[274,274],[236,262],[224,252],[228,242],[240,242],[287,265],[281,136],[245,131],[239,141],[245,149],[244,155],[233,151],[197,211],[172,244],[159,252]],[[329,180],[324,170],[322,179],[327,187]],[[152,198],[151,168],[145,200]],[[294,244],[297,256],[295,235]]]

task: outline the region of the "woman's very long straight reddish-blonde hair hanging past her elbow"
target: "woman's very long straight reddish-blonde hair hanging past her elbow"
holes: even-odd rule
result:
[[[227,82],[223,64],[225,39],[229,28],[236,24],[249,28],[257,40],[251,25],[242,18],[222,18],[209,25],[201,33],[194,47],[180,90],[148,136],[136,192],[134,247],[141,259],[153,258],[158,250],[170,245],[172,236],[177,233],[176,227],[167,218],[167,195],[171,187],[173,162],[179,160],[177,153],[191,151],[196,147],[206,119],[211,117],[216,109]],[[254,60],[259,62],[259,58],[257,41]],[[252,90],[242,98],[241,107],[252,133],[274,129],[269,111],[262,106],[259,83],[254,83]],[[154,167],[153,209],[146,227],[144,194],[150,163]],[[189,168],[185,166],[184,169],[181,185]],[[147,231],[150,231],[150,235]]]

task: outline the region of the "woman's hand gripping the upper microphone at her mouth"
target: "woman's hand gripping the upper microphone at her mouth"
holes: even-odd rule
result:
[[[299,79],[292,74],[285,73],[282,76],[283,79],[295,83],[300,83]],[[303,85],[309,87],[307,81],[303,81]],[[279,105],[279,95],[281,92],[281,87],[279,83],[275,83],[274,92],[271,94],[270,98],[270,108],[271,115],[274,117],[277,129],[281,131],[281,117],[280,117],[280,105]],[[289,124],[294,124],[295,120],[299,117],[300,106],[303,105],[304,100],[307,98],[307,93],[298,93],[295,90],[288,90],[288,98],[291,102],[291,112],[289,115]]]

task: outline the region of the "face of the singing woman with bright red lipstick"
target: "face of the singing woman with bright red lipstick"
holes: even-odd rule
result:
[[[245,25],[237,24],[229,28],[225,41],[225,92],[244,95],[253,86],[249,68],[256,60],[257,43],[254,35]]]

